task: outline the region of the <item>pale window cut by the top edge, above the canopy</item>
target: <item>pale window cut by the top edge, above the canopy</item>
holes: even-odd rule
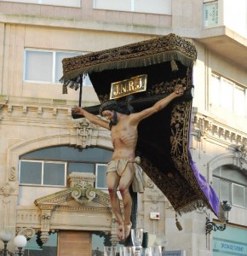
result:
[[[94,0],[94,9],[171,15],[171,0]]]

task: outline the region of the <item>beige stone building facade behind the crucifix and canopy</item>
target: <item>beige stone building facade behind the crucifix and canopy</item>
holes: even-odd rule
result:
[[[62,94],[61,60],[169,33],[198,50],[190,150],[232,209],[223,232],[206,234],[206,218],[220,225],[207,209],[177,217],[178,230],[146,177],[138,224],[178,255],[247,254],[247,1],[2,0],[0,230],[35,230],[26,255],[97,255],[103,241],[117,243],[105,182],[110,134],[72,119],[78,91]],[[82,106],[98,104],[87,77],[84,84]]]

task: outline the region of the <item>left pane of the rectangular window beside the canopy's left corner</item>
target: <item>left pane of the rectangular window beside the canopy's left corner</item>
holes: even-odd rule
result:
[[[48,51],[26,50],[25,80],[52,81],[53,54]]]

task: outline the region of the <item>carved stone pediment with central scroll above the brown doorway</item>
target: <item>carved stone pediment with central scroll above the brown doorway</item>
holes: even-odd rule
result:
[[[109,195],[99,189],[95,189],[90,183],[83,180],[83,174],[84,173],[81,173],[78,183],[75,183],[72,188],[43,196],[35,201],[35,205],[40,211],[39,226],[40,241],[42,243],[48,241],[49,232],[54,229],[53,224],[60,223],[63,212],[65,212],[65,218],[67,218],[67,214],[72,214],[73,216],[73,214],[75,214],[74,212],[80,212],[83,215],[87,212],[89,212],[89,214],[93,212],[95,216],[97,214],[99,214],[99,216],[101,215],[101,218],[103,216],[105,221],[104,224],[102,224],[101,230],[104,227],[104,232],[111,233],[110,239],[112,244],[118,243],[117,224],[115,223],[116,217],[112,212]],[[85,176],[85,179],[87,179],[87,177],[88,175]],[[122,201],[120,201],[120,205],[121,209],[123,209]],[[109,221],[109,219],[111,221]],[[73,220],[71,220],[70,223],[72,224],[72,222]],[[70,224],[68,224],[68,229],[70,228],[69,225]],[[84,224],[81,225],[81,229],[83,230]]]

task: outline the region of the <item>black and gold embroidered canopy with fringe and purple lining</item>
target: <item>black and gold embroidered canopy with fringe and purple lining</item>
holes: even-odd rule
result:
[[[208,207],[220,215],[220,201],[206,179],[198,172],[189,152],[192,112],[192,67],[197,58],[195,46],[175,34],[128,44],[122,47],[66,58],[62,61],[63,92],[77,90],[83,75],[89,74],[101,103],[109,101],[111,84],[146,75],[146,90],[122,96],[131,111],[152,106],[174,91],[186,87],[184,96],[167,108],[141,121],[136,154],[141,167],[168,198],[179,214]],[[98,113],[100,105],[86,108]]]

